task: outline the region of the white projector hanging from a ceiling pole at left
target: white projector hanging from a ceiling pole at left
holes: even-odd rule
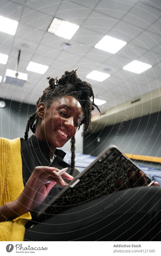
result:
[[[27,81],[28,75],[26,73],[18,72],[18,64],[20,61],[21,50],[18,51],[18,60],[16,64],[16,70],[7,69],[3,82],[7,84],[15,84],[17,86],[23,86]]]

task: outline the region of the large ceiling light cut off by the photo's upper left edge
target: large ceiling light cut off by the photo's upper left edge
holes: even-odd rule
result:
[[[18,26],[18,21],[10,20],[0,16],[0,31],[10,35],[15,35]]]

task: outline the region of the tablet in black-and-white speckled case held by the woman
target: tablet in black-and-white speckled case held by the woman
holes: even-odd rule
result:
[[[124,181],[124,189],[130,188],[128,173],[134,171],[139,184],[140,169],[127,158],[115,145],[110,145],[87,167],[79,173],[65,188],[43,207],[38,217],[46,220],[67,210],[69,207],[83,204],[118,191],[118,180]],[[150,178],[144,173],[147,183]],[[141,185],[141,184],[139,184]]]

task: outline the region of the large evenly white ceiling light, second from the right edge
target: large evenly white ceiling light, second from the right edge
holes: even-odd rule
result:
[[[106,52],[116,53],[126,44],[127,42],[112,36],[104,36],[94,47]]]

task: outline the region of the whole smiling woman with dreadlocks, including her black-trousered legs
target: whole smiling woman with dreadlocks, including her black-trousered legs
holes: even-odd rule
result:
[[[144,187],[137,187],[132,171],[129,181],[134,188],[124,197],[124,182],[118,180],[121,191],[80,205],[74,204],[73,195],[74,207],[57,215],[53,212],[43,222],[37,217],[78,174],[74,135],[83,124],[82,135],[88,131],[94,107],[99,110],[92,86],[78,78],[76,71],[65,71],[59,80],[49,79],[27,122],[25,139],[0,138],[1,241],[160,241],[161,190],[148,187],[142,172],[139,177]],[[29,129],[33,135],[28,138]],[[71,165],[63,160],[65,152],[57,149],[68,140]],[[59,172],[67,167],[66,172]]]

